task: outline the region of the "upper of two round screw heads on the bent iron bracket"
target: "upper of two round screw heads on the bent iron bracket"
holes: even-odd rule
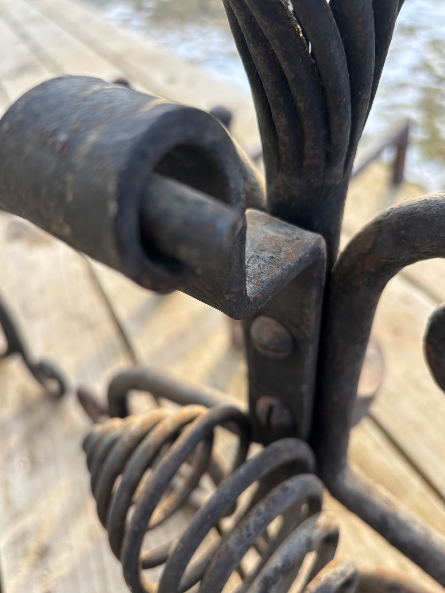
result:
[[[250,337],[255,349],[268,358],[288,358],[295,350],[291,334],[272,317],[257,317],[250,327]]]

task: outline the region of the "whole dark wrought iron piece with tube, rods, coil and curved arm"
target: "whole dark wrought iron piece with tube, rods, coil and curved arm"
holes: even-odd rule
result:
[[[210,114],[98,79],[45,82],[0,123],[2,208],[145,288],[178,288],[244,319],[248,412],[148,369],[112,381],[116,417],[84,444],[99,518],[134,593],[198,582],[215,593],[236,572],[237,591],[290,591],[310,550],[308,592],[391,589],[389,577],[333,560],[338,529],[321,510],[324,483],[445,585],[445,538],[347,458],[380,294],[402,267],[445,257],[443,194],[383,212],[338,256],[352,163],[403,0],[223,1],[258,113],[265,184]],[[441,386],[443,318],[438,310],[427,333]],[[126,417],[135,388],[186,405]],[[237,438],[228,473],[216,426]],[[252,441],[264,447],[247,458]],[[184,533],[147,549],[147,530],[202,495],[205,473],[214,491]],[[268,530],[279,516],[281,528]],[[196,559],[213,527],[220,540]],[[161,565],[156,585],[145,570]]]

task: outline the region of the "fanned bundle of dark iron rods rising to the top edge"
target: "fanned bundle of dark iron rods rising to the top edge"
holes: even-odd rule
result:
[[[332,264],[403,2],[223,2],[258,113],[269,211],[322,234]]]

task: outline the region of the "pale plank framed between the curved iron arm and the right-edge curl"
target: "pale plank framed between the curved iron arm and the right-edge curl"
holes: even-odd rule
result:
[[[386,375],[373,413],[445,497],[445,397],[430,377],[422,336],[436,303],[403,278],[383,292],[375,330]]]

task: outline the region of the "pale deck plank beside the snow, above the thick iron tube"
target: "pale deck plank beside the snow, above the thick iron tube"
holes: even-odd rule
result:
[[[245,146],[258,146],[252,99],[243,91],[212,79],[125,28],[113,26],[84,4],[70,0],[26,2],[115,65],[145,91],[204,109],[216,104],[229,107],[234,113],[234,136]]]

